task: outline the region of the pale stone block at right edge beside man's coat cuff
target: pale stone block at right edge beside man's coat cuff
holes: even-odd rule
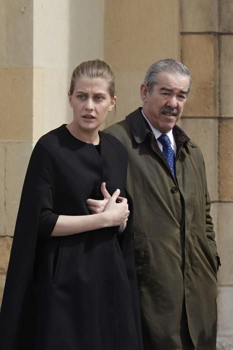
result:
[[[218,249],[222,263],[219,284],[233,285],[233,202],[219,203]]]

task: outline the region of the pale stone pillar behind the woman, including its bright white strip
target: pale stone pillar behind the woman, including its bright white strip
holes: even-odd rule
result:
[[[71,119],[72,70],[103,58],[104,0],[2,0],[0,10],[0,299],[34,142]]]

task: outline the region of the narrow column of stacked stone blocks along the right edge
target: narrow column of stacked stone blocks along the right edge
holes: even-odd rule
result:
[[[233,348],[233,1],[219,1],[219,336]],[[223,340],[222,340],[223,339]],[[225,340],[224,340],[225,339]],[[227,348],[227,347],[226,347]]]

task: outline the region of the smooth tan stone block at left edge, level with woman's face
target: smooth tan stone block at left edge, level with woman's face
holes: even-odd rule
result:
[[[0,68],[0,139],[31,139],[32,78],[32,68]]]

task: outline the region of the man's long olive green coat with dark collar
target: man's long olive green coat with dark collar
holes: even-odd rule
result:
[[[134,247],[144,350],[182,349],[184,299],[196,349],[216,349],[220,262],[199,147],[174,127],[175,180],[140,109],[107,132],[129,154],[127,190],[135,205]]]

